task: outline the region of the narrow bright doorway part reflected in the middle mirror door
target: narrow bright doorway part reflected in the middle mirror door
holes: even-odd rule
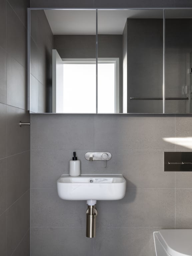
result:
[[[98,113],[119,113],[119,59],[98,59]]]

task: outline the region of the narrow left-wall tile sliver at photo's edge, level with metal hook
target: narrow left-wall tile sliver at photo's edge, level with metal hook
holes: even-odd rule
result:
[[[0,159],[6,157],[7,151],[7,125],[6,125],[7,107],[0,103]]]

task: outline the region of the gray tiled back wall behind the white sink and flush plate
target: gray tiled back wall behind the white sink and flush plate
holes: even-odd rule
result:
[[[31,0],[31,6],[192,7],[188,0]],[[32,115],[31,123],[31,256],[154,256],[153,231],[192,227],[192,174],[163,172],[164,150],[190,150],[163,138],[191,137],[191,116],[46,114]],[[74,150],[82,173],[127,179],[124,199],[97,203],[95,239],[85,237],[86,202],[57,196],[56,180],[69,172]],[[112,153],[106,169],[84,158],[97,150]]]

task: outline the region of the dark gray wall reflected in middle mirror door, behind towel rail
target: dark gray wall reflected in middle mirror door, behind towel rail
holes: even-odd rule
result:
[[[163,19],[127,19],[128,113],[163,113],[163,100],[130,97],[163,97]]]

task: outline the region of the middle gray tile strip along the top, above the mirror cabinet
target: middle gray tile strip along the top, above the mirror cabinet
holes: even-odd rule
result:
[[[95,7],[97,8],[157,8],[157,7],[175,7],[174,0],[95,0]]]

